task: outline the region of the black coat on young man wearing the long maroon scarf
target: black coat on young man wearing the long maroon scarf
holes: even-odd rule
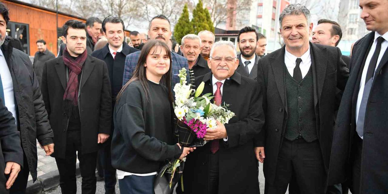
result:
[[[98,150],[98,133],[110,134],[112,117],[111,83],[104,61],[87,56],[83,64],[78,108],[81,120],[82,153]],[[55,157],[64,158],[68,116],[63,113],[63,95],[67,87],[63,56],[43,66],[42,94],[51,127],[54,131]]]

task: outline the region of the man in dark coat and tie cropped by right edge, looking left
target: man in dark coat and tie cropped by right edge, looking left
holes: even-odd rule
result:
[[[348,180],[353,194],[388,193],[388,1],[360,0],[372,31],[353,47],[329,168],[329,184]]]

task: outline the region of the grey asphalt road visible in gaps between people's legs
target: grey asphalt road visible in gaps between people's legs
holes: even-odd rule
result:
[[[259,180],[260,180],[260,193],[264,193],[264,176],[263,176],[263,165],[260,164],[260,173],[259,173]],[[97,181],[97,191],[96,194],[104,194],[104,181]],[[175,193],[175,192],[174,192]],[[55,190],[47,191],[45,194],[61,194],[61,188],[57,187]],[[81,177],[77,178],[77,194],[81,194]],[[118,183],[116,184],[116,194],[120,194]],[[288,194],[288,191],[286,192]]]

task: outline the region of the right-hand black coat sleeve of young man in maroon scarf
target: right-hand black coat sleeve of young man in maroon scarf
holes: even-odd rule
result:
[[[100,126],[99,133],[111,134],[112,122],[112,90],[111,81],[109,81],[109,73],[106,63],[102,72],[102,88],[100,101]]]

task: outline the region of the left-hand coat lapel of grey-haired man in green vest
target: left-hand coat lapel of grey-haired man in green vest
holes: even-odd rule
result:
[[[280,53],[277,55],[274,55],[272,57],[272,71],[274,71],[274,77],[275,77],[275,82],[277,86],[277,90],[279,90],[279,95],[282,99],[283,105],[285,106],[286,104],[286,90],[284,86],[284,52],[285,52],[286,47],[283,46],[281,50],[279,50]]]

